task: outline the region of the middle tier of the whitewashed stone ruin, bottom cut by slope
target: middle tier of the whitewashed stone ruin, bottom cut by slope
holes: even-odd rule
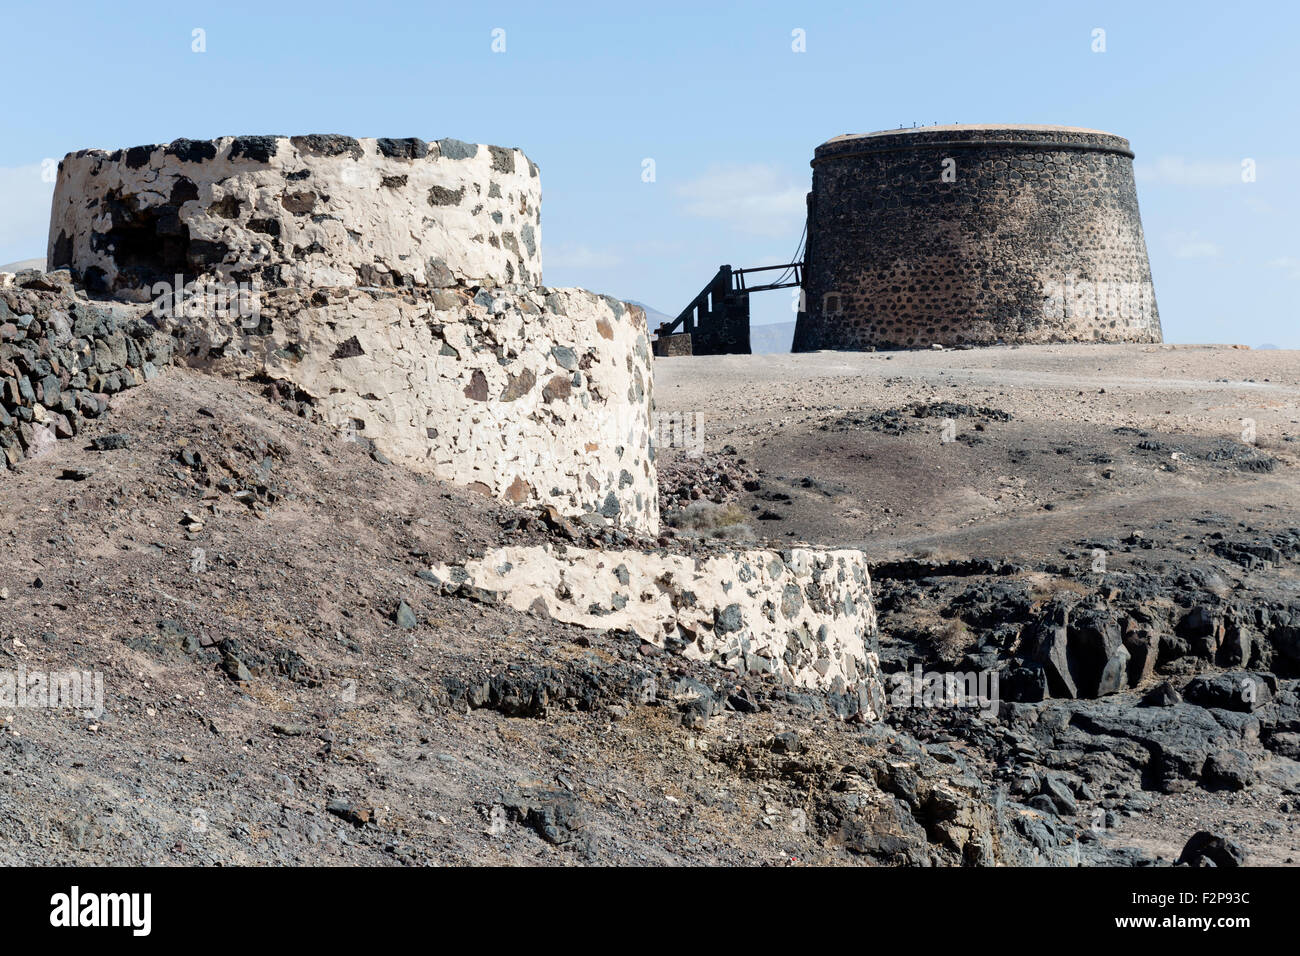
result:
[[[278,290],[185,319],[182,360],[268,377],[389,459],[516,505],[656,533],[645,313],[580,289]]]

